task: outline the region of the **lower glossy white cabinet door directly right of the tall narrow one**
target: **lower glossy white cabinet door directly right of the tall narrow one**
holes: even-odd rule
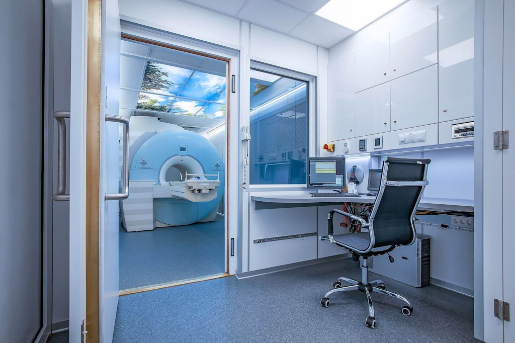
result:
[[[390,130],[390,82],[355,94],[356,136]]]

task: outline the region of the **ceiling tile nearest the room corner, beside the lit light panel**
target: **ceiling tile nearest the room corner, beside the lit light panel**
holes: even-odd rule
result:
[[[354,33],[351,29],[311,14],[291,30],[289,35],[324,48],[330,48],[351,33]]]

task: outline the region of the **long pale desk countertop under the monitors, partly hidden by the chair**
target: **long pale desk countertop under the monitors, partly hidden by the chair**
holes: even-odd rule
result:
[[[270,195],[253,195],[250,200],[258,202],[272,202],[272,203],[283,203],[283,204],[313,204],[317,203],[343,203],[343,202],[368,202],[372,203],[375,201],[375,197],[362,195],[360,197],[312,197],[309,193],[300,194],[280,194],[273,193]],[[420,200],[420,210],[450,210],[450,211],[464,211],[474,212],[474,200],[468,199],[447,199],[447,198],[426,198],[423,197]]]

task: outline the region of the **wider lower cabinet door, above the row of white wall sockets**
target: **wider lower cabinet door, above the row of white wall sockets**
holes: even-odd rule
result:
[[[438,122],[438,66],[392,80],[391,130]]]

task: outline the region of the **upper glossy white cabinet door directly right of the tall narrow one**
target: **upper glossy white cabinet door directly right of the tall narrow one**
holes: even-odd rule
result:
[[[390,36],[386,35],[355,51],[356,92],[390,80]]]

